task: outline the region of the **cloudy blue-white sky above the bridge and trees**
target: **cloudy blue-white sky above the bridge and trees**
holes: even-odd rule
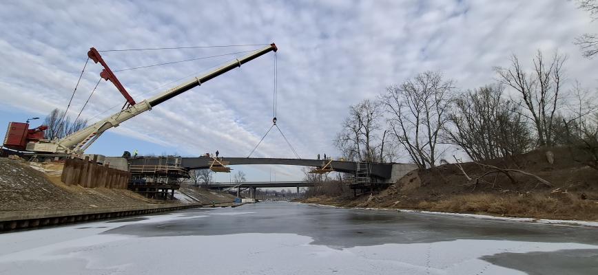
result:
[[[598,87],[595,67],[573,45],[598,22],[574,1],[1,1],[0,123],[65,108],[90,47],[278,45],[278,124],[303,158],[337,155],[332,140],[350,104],[417,72],[440,70],[460,89],[495,79],[493,66],[537,50],[568,55],[570,82]],[[256,46],[105,52],[112,69],[254,50]],[[234,56],[117,72],[141,101]],[[70,114],[99,78],[90,63]],[[247,156],[271,125],[274,54],[169,100],[106,133],[89,153]],[[123,98],[102,81],[83,111],[91,121]],[[116,107],[116,108],[114,108]],[[114,108],[114,109],[111,109]],[[37,126],[34,124],[34,126]],[[0,131],[0,137],[4,132]],[[293,157],[279,133],[254,156]],[[249,180],[300,179],[298,170],[241,168]],[[227,180],[228,175],[217,179]]]

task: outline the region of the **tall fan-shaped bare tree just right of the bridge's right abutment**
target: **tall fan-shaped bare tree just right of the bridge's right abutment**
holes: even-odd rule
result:
[[[440,72],[423,72],[401,85],[386,88],[381,97],[390,134],[420,168],[435,167],[440,157],[437,144],[448,121],[454,81]]]

